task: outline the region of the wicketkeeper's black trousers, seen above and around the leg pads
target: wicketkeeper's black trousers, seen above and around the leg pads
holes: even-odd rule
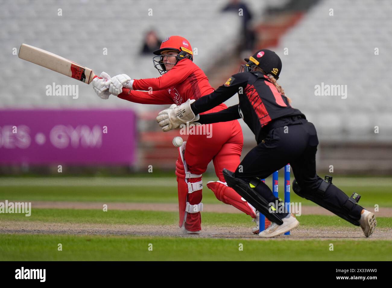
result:
[[[263,179],[290,163],[299,187],[310,193],[316,192],[324,180],[316,173],[318,138],[314,125],[300,117],[286,118],[272,124],[267,138],[250,150],[234,175],[245,181],[254,177]],[[269,202],[275,203],[277,200],[265,183],[261,182],[256,191]],[[329,203],[342,209],[348,199],[348,196],[334,185],[331,185],[326,197]],[[359,219],[361,210],[362,207],[356,205],[349,214],[354,219]],[[287,213],[279,216],[286,215]]]

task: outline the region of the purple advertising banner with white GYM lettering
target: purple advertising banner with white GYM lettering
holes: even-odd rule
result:
[[[135,153],[131,110],[0,110],[0,165],[132,165]]]

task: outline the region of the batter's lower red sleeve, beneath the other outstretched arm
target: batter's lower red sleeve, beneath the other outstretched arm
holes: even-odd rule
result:
[[[173,104],[174,100],[167,90],[156,90],[149,92],[134,91],[123,88],[118,98],[140,104]]]

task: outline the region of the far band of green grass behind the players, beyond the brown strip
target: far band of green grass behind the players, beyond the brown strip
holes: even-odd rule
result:
[[[203,178],[203,182],[216,181]],[[266,180],[271,187],[271,179]],[[346,194],[357,192],[362,206],[392,207],[389,178],[337,178],[334,184]],[[283,183],[283,178],[279,179]],[[281,186],[281,189],[283,186]],[[204,187],[203,203],[219,203]],[[96,201],[176,203],[176,179],[173,178],[0,178],[0,199],[9,201]],[[291,201],[316,205],[291,193]]]

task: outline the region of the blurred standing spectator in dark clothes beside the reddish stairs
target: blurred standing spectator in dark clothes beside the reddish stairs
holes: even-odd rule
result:
[[[240,10],[242,9],[242,10]],[[255,40],[255,33],[250,25],[252,14],[244,2],[241,0],[231,0],[223,9],[222,12],[233,11],[238,13],[242,18],[242,39],[239,49],[241,51],[252,51]]]

